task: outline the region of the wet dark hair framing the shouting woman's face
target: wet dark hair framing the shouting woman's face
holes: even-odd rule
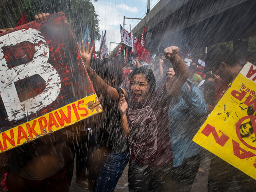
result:
[[[129,75],[130,86],[131,86],[133,76],[138,74],[142,74],[146,77],[146,80],[149,84],[149,92],[152,94],[156,90],[156,78],[152,70],[145,67],[139,67],[134,69]]]

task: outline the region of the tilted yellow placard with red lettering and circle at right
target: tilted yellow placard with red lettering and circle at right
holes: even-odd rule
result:
[[[256,66],[247,63],[193,141],[256,179]]]

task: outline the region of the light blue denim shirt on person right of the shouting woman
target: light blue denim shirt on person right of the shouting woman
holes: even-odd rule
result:
[[[181,94],[169,105],[169,134],[174,155],[174,167],[180,166],[184,158],[200,153],[201,147],[192,141],[207,113],[207,105],[202,91],[187,80]]]

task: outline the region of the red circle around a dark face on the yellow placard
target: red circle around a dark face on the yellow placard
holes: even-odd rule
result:
[[[253,149],[253,150],[256,150],[256,147],[252,146],[251,144],[248,144],[248,142],[246,142],[242,136],[241,136],[241,133],[240,133],[240,130],[241,130],[241,126],[246,126],[245,124],[248,124],[249,126],[251,126],[253,128],[253,132],[252,132],[252,129],[251,129],[251,133],[249,133],[248,131],[248,135],[249,134],[254,134],[253,137],[251,138],[255,138],[254,141],[256,141],[256,122],[255,122],[255,119],[256,119],[256,116],[253,116],[253,115],[250,115],[250,116],[245,116],[243,118],[241,118],[237,123],[236,123],[236,135],[238,136],[239,140],[242,142],[242,144],[244,144],[246,147],[250,148],[250,149]],[[246,121],[246,123],[242,124],[244,121]],[[254,142],[252,141],[252,142]],[[256,144],[256,142],[255,142]]]

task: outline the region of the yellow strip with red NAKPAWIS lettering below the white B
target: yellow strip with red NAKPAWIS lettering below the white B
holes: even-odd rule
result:
[[[34,120],[0,133],[0,150],[6,151],[34,140],[39,136],[60,130],[102,111],[96,94],[92,94]]]

